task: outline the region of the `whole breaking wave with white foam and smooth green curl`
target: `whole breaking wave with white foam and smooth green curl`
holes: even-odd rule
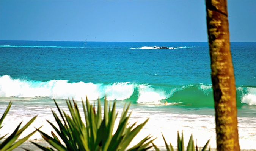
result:
[[[67,80],[46,82],[13,79],[9,75],[0,77],[1,97],[49,97],[50,99],[74,99],[88,97],[89,100],[127,100],[141,104],[168,104],[193,107],[212,107],[212,86],[204,84],[166,85],[119,83],[70,83]],[[256,88],[237,88],[237,106],[243,103],[256,105]]]

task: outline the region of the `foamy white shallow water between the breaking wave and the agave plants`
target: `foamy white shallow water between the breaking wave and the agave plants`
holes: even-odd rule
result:
[[[0,115],[7,107],[9,98],[3,99],[0,102]],[[42,100],[39,98],[30,99],[20,99],[13,98],[13,105],[9,111],[8,116],[3,122],[3,128],[0,131],[0,136],[6,133],[11,133],[14,131],[16,126],[23,121],[24,125],[32,117],[38,115],[35,122],[32,123],[29,129],[22,134],[24,137],[28,133],[35,130],[34,127],[39,128],[42,126],[41,130],[50,135],[52,128],[49,123],[54,122],[54,118],[51,113],[51,108],[53,111],[57,112],[52,100]],[[60,108],[68,112],[64,100],[57,100]],[[91,102],[93,103],[93,102]],[[112,103],[113,104],[113,103]],[[82,105],[78,102],[80,107],[80,112],[82,112]],[[117,103],[117,111],[119,116],[123,109],[123,102]],[[183,131],[185,145],[187,145],[190,135],[193,133],[193,138],[197,140],[198,146],[204,146],[208,139],[210,139],[211,148],[216,147],[215,139],[215,117],[213,116],[213,109],[199,109],[187,111],[186,109],[177,108],[163,108],[163,105],[139,105],[132,104],[130,111],[132,111],[132,116],[130,117],[130,124],[137,122],[142,123],[149,117],[149,121],[144,126],[143,130],[138,134],[131,145],[135,145],[139,140],[143,139],[145,136],[151,134],[155,145],[165,146],[162,134],[165,136],[167,142],[171,142],[173,146],[177,144],[177,131]],[[190,112],[190,114],[188,114]],[[119,118],[118,116],[118,118]],[[239,142],[241,149],[255,149],[256,148],[256,118],[255,117],[239,117]],[[39,133],[34,134],[30,137],[30,140],[42,140]]]

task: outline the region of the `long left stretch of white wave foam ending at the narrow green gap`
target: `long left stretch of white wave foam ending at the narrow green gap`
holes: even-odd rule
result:
[[[124,100],[134,91],[134,85],[126,83],[69,83],[67,80],[47,82],[12,79],[9,75],[0,77],[0,97],[50,97],[53,99],[97,100],[108,96],[108,100]]]

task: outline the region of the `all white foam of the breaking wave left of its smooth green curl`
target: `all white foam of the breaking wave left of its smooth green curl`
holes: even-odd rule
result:
[[[129,99],[135,89],[138,89],[138,103],[161,104],[163,99],[169,98],[174,92],[183,88],[174,88],[170,92],[165,89],[154,88],[148,84],[130,82],[118,83],[70,83],[68,80],[50,80],[46,82],[13,79],[9,75],[0,77],[0,97],[49,97],[51,99],[88,98],[97,100],[107,96],[108,100]]]

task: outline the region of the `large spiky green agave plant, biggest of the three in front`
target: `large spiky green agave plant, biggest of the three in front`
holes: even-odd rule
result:
[[[83,103],[83,112],[85,116],[85,124],[82,121],[77,104],[71,103],[70,100],[66,100],[69,116],[64,111],[61,112],[56,101],[54,100],[60,117],[55,112],[52,114],[58,124],[58,128],[53,123],[47,121],[52,128],[56,131],[55,134],[51,132],[52,136],[39,131],[46,142],[48,142],[53,148],[58,151],[146,151],[152,146],[149,146],[151,137],[146,136],[137,145],[127,149],[130,142],[142,129],[142,127],[148,122],[148,119],[143,123],[136,126],[136,123],[128,126],[128,120],[130,114],[127,116],[129,106],[124,106],[121,114],[118,127],[113,134],[114,123],[117,118],[116,103],[113,103],[112,109],[108,108],[107,100],[104,102],[104,115],[102,119],[101,103],[98,99],[97,111],[95,105],[90,105],[86,97],[86,106]],[[74,106],[73,106],[74,105]],[[53,151],[53,148],[41,146],[35,142],[32,142],[40,149],[44,151]],[[62,144],[64,143],[64,145]]]

